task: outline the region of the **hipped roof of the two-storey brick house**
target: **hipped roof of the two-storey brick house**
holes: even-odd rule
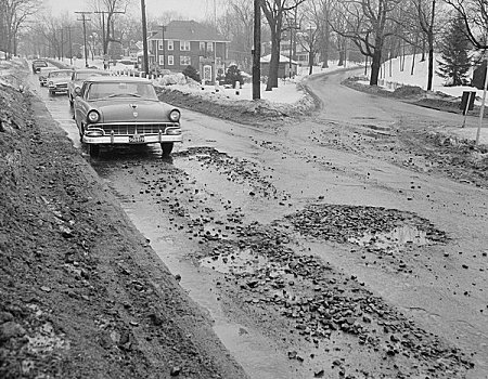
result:
[[[150,40],[163,39],[163,30],[155,30]],[[200,24],[195,21],[171,21],[165,30],[165,40],[229,42],[213,26]]]

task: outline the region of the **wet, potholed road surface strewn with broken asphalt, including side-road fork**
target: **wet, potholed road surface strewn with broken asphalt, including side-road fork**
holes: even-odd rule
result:
[[[344,75],[308,80],[323,108],[297,125],[184,110],[169,161],[151,147],[90,160],[67,97],[31,88],[249,377],[463,377],[445,347],[474,363],[467,378],[487,377],[487,191],[396,148],[401,128],[462,119]]]

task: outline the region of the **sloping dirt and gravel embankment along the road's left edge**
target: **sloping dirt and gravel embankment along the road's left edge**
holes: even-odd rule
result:
[[[0,377],[245,378],[43,104],[0,109]]]

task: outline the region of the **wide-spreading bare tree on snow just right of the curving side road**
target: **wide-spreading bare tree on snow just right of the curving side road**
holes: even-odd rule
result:
[[[333,30],[349,38],[363,55],[371,57],[370,86],[377,86],[385,40],[394,35],[390,14],[399,3],[399,0],[346,0],[334,6]]]

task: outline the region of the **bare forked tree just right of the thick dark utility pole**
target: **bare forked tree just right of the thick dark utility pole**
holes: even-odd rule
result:
[[[266,91],[278,88],[278,68],[280,65],[280,42],[283,32],[283,17],[285,13],[297,8],[306,0],[261,0],[262,13],[268,21],[271,31],[271,60],[269,63],[268,82]]]

